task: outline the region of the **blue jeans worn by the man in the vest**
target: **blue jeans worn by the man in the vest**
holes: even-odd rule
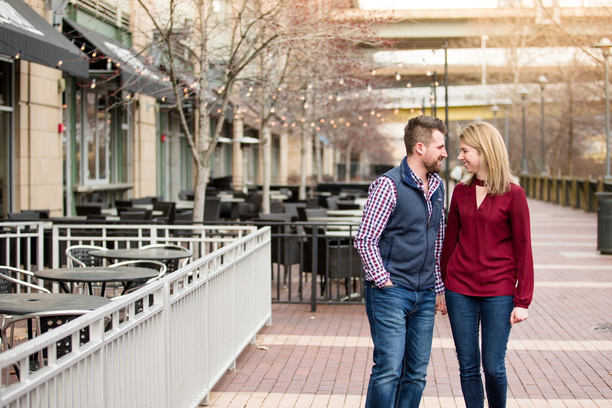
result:
[[[435,316],[434,289],[378,287],[365,282],[365,311],[374,341],[374,366],[366,408],[418,408]]]

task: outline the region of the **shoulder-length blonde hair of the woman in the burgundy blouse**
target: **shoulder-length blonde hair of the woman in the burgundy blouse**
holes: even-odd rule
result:
[[[517,184],[510,169],[506,144],[499,130],[487,122],[472,122],[461,129],[459,140],[478,150],[480,167],[487,172],[485,185],[488,194],[497,196],[510,191],[510,184]],[[472,185],[476,174],[472,174],[463,184]]]

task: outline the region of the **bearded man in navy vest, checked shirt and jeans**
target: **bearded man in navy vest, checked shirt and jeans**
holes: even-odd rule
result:
[[[446,314],[439,258],[444,185],[438,176],[446,125],[417,116],[404,128],[406,157],[370,186],[355,237],[365,269],[374,341],[366,408],[418,408],[436,311]]]

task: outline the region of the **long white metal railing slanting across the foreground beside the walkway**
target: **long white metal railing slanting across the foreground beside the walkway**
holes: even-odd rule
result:
[[[45,347],[48,365],[0,390],[1,407],[196,407],[271,319],[270,228],[0,353],[0,372]],[[152,298],[152,305],[147,302]],[[143,311],[136,313],[142,302]],[[105,316],[111,328],[105,332]],[[120,317],[123,321],[120,321]],[[80,330],[89,341],[79,345]],[[58,341],[72,351],[56,358]]]

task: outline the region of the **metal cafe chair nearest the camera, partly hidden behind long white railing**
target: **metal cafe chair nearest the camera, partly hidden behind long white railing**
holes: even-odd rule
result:
[[[64,323],[75,319],[78,316],[81,316],[85,313],[89,313],[91,310],[59,310],[59,311],[48,311],[48,312],[39,312],[39,313],[29,313],[22,314],[20,316],[14,317],[10,319],[6,324],[2,325],[2,331],[0,335],[2,336],[2,346],[4,346],[4,351],[9,350],[13,347],[13,332],[15,324],[24,320],[29,321],[30,319],[35,321],[35,325],[31,325],[28,323],[28,339],[34,338],[34,334],[36,336],[42,335],[42,333],[46,333],[49,330],[53,330],[54,328],[59,327]],[[32,327],[35,327],[34,330],[31,330]],[[7,330],[10,330],[10,337],[7,336]],[[89,341],[89,327],[81,328],[80,336],[80,344],[87,343]],[[68,354],[72,351],[72,336],[67,336],[58,342],[56,348],[57,358],[62,357],[64,354]],[[48,357],[47,349],[42,349],[32,355],[29,360],[30,371],[36,371],[45,365],[45,358]],[[17,374],[17,379],[20,378],[20,363],[13,363],[13,368],[15,369],[15,374]],[[6,368],[6,385],[10,385],[10,367]]]

